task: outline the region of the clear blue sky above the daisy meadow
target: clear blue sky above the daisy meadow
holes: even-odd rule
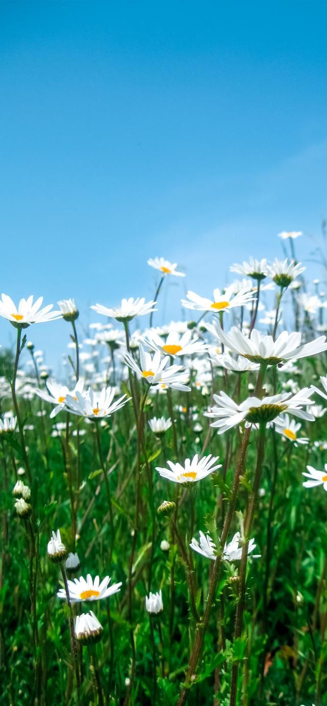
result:
[[[312,249],[326,203],[324,1],[0,3],[1,291],[151,297],[163,255],[207,295]],[[300,244],[300,241],[297,241]],[[10,329],[10,330],[9,330]],[[0,340],[13,339],[0,323]],[[30,335],[54,362],[61,322]],[[51,353],[49,353],[51,348]]]

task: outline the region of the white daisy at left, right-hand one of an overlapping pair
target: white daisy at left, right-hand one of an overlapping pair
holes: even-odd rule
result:
[[[130,397],[122,395],[116,402],[113,402],[115,388],[102,388],[101,392],[96,392],[89,388],[88,390],[75,390],[75,395],[66,395],[65,409],[72,414],[77,414],[79,417],[88,417],[88,419],[100,419],[102,417],[110,417],[113,412],[121,409]]]

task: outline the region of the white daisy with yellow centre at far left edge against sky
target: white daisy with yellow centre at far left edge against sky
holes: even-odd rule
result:
[[[0,316],[7,318],[15,328],[27,328],[31,323],[44,323],[45,321],[54,321],[56,318],[62,318],[61,311],[51,311],[53,304],[44,306],[39,309],[43,301],[43,297],[39,297],[33,304],[33,297],[20,299],[18,308],[13,303],[8,294],[1,294],[0,301]]]

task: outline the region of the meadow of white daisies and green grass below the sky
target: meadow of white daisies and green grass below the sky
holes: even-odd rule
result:
[[[161,326],[163,258],[86,337],[73,299],[2,294],[1,706],[327,704],[327,300],[300,236]]]

